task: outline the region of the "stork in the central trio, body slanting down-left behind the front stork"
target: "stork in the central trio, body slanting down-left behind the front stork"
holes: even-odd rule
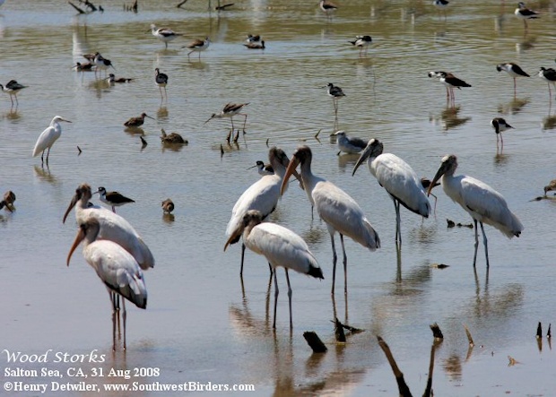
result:
[[[268,151],[268,159],[274,168],[274,174],[265,175],[257,180],[253,185],[239,196],[238,201],[231,210],[230,221],[226,227],[226,237],[234,235],[234,231],[239,229],[239,225],[243,221],[244,215],[249,210],[260,211],[263,219],[265,219],[278,204],[280,199],[280,189],[282,180],[286,173],[286,166],[290,163],[290,159],[282,149],[273,147]],[[284,187],[285,190],[285,187]],[[235,244],[239,241],[241,235],[228,240],[229,244]],[[241,267],[239,276],[243,277],[243,261],[245,256],[245,243],[241,245]]]

